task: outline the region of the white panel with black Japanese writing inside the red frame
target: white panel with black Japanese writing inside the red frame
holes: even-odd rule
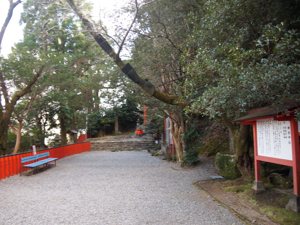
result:
[[[256,121],[257,155],[292,160],[291,122]]]

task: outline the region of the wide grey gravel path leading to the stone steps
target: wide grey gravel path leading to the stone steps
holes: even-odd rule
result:
[[[0,181],[0,224],[244,224],[193,186],[213,163],[182,169],[146,151],[84,152]]]

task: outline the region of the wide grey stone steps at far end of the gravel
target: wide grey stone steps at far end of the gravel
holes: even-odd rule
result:
[[[149,140],[151,138],[136,135],[120,135],[101,137],[100,140],[91,140],[91,151],[142,151],[154,150],[155,141]]]

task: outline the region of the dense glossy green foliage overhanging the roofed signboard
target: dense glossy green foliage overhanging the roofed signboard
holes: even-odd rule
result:
[[[233,119],[279,99],[300,100],[300,35],[292,29],[299,18],[290,4],[207,1],[199,11],[190,18],[199,25],[190,38],[196,48],[184,58],[193,58],[185,69],[193,76],[190,111]]]

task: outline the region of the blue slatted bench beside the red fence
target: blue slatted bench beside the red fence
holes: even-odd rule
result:
[[[58,158],[46,158],[46,159],[38,161],[38,159],[40,159],[40,158],[49,157],[49,155],[50,155],[49,152],[44,152],[44,153],[41,153],[38,155],[32,155],[32,156],[27,156],[27,157],[21,158],[22,169],[21,169],[20,176],[22,174],[33,175],[34,171],[36,171],[36,170],[44,170],[45,171],[46,168],[49,167],[50,165],[56,166],[56,160]],[[23,163],[30,162],[30,161],[34,161],[34,162],[23,165]],[[50,162],[53,162],[53,161],[54,161],[54,164],[49,164]],[[43,166],[43,167],[40,167],[40,166]],[[31,173],[25,173],[23,167],[31,168]]]

